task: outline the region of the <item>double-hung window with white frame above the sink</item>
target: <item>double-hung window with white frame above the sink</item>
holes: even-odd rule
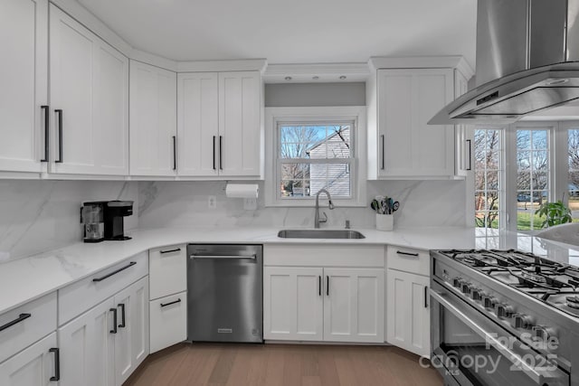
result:
[[[310,206],[320,189],[337,206],[364,205],[364,110],[267,108],[266,205]]]

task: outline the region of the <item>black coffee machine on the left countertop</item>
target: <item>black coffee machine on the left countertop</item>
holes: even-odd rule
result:
[[[83,202],[81,222],[84,242],[129,240],[124,234],[123,217],[133,214],[132,201]]]

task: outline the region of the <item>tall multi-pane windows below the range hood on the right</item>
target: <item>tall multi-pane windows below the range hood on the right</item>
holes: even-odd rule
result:
[[[536,210],[557,200],[579,218],[579,123],[476,127],[474,145],[477,227],[533,233]]]

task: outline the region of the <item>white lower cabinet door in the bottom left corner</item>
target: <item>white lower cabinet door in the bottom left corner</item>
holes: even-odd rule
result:
[[[58,385],[58,381],[51,381],[51,378],[56,375],[56,368],[55,353],[50,350],[56,347],[56,333],[52,333],[23,352],[15,354],[0,364],[0,384],[2,386]]]

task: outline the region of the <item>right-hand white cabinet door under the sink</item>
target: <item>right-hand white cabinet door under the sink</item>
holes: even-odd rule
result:
[[[324,340],[384,342],[384,269],[324,268]]]

